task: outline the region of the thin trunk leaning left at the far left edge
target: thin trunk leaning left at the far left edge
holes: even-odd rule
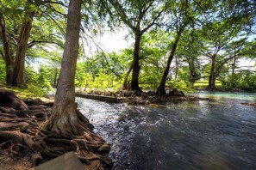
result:
[[[0,14],[0,28],[1,28],[1,36],[3,39],[3,55],[5,61],[5,82],[10,82],[10,77],[12,75],[13,70],[13,58],[11,56],[10,48],[9,48],[9,39],[5,30],[5,22],[3,19],[3,15]]]

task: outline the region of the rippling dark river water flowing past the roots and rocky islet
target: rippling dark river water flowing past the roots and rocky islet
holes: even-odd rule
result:
[[[256,94],[194,95],[211,101],[125,106],[77,98],[111,143],[113,169],[256,169]]]

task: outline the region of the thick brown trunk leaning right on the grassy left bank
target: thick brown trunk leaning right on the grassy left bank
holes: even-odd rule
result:
[[[11,86],[24,86],[25,85],[25,56],[27,52],[28,39],[32,28],[32,21],[35,11],[27,9],[24,21],[17,41],[16,47],[16,61],[14,70],[11,76]]]

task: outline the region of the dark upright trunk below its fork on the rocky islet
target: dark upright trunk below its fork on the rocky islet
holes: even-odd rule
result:
[[[139,75],[140,75],[140,40],[141,40],[142,33],[135,33],[135,43],[134,43],[134,61],[133,61],[133,75],[132,75],[132,82],[131,82],[131,90],[136,90],[142,92],[141,88],[139,87]]]

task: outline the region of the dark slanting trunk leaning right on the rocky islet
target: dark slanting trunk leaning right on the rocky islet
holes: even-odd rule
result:
[[[174,56],[174,54],[176,52],[176,49],[177,49],[177,46],[178,46],[179,37],[180,37],[180,34],[178,34],[175,37],[175,40],[172,44],[172,50],[171,50],[170,55],[168,57],[167,64],[165,66],[164,74],[162,76],[159,87],[157,88],[157,94],[158,95],[165,95],[166,94],[166,92],[165,92],[165,83],[166,83],[167,76],[168,76],[168,73],[169,73],[169,70],[170,70],[170,66],[171,66],[171,63],[172,63],[173,56]]]

